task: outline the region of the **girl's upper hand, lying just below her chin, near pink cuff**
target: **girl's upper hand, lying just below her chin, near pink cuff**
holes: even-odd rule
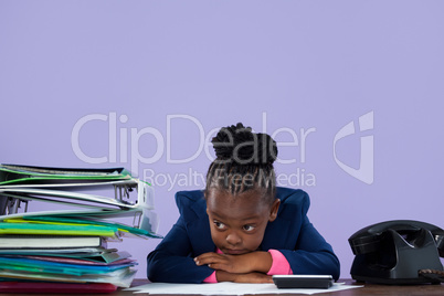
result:
[[[251,252],[242,255],[228,255],[209,252],[194,258],[197,265],[208,265],[215,271],[235,274],[252,272],[267,273],[273,260],[268,252]]]

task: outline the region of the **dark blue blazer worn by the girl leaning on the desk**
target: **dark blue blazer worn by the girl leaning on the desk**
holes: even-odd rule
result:
[[[331,246],[307,218],[308,194],[303,190],[277,188],[281,199],[277,218],[268,222],[263,251],[278,250],[294,274],[330,274],[339,277],[339,261]],[[197,266],[193,258],[214,252],[203,191],[176,193],[180,216],[162,242],[148,255],[148,278],[165,283],[202,283],[214,269]]]

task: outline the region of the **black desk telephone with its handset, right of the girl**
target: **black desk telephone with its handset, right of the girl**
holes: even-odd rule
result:
[[[350,274],[359,282],[437,284],[444,282],[444,230],[412,220],[372,224],[349,237],[356,255]]]

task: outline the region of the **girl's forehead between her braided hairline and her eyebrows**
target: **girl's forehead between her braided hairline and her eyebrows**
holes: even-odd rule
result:
[[[264,216],[269,207],[255,190],[234,197],[224,191],[211,190],[207,195],[207,208],[211,214],[220,218],[244,220]]]

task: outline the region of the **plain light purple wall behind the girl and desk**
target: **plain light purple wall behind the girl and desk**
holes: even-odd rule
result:
[[[442,1],[404,0],[1,1],[0,162],[123,166],[146,180],[152,170],[166,234],[178,218],[175,192],[203,187],[183,177],[204,176],[210,163],[199,126],[205,137],[237,121],[269,134],[286,128],[278,141],[311,128],[305,152],[300,138],[281,147],[281,159],[296,161],[276,171],[299,170],[299,183],[288,186],[310,194],[309,218],[350,277],[347,239],[362,226],[393,219],[444,226],[443,11]],[[360,133],[358,118],[370,112],[374,128]],[[94,114],[106,120],[86,123],[78,144],[107,157],[103,163],[73,149],[73,128]],[[189,119],[170,119],[168,131],[168,116],[178,115]],[[357,133],[337,142],[337,157],[359,168],[360,136],[373,137],[371,184],[335,161],[335,135],[350,121]],[[150,133],[137,139],[131,129]],[[172,159],[197,157],[171,163],[167,146]],[[136,158],[156,152],[152,163]],[[168,176],[182,182],[163,184]],[[117,247],[145,277],[158,243],[127,239]]]

